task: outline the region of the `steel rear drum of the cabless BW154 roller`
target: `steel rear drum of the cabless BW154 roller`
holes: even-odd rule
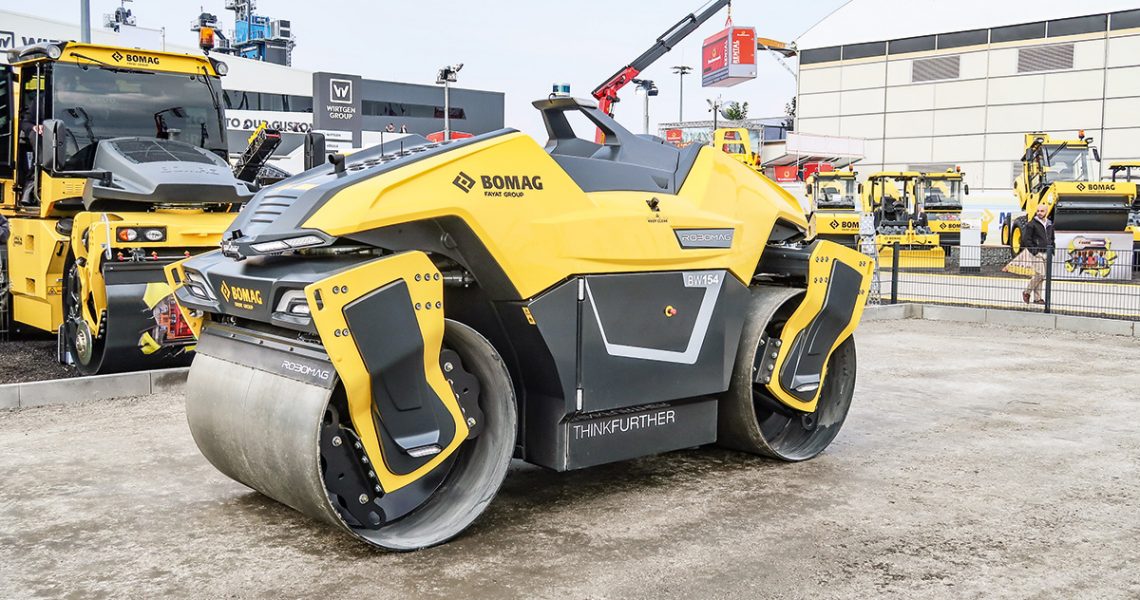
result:
[[[855,340],[848,338],[831,355],[813,413],[796,411],[752,381],[760,340],[779,337],[799,305],[799,291],[752,287],[749,313],[736,351],[732,383],[720,396],[717,444],[727,448],[796,462],[815,457],[839,433],[855,391]]]

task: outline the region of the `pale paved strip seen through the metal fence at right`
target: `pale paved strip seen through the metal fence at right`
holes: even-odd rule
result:
[[[890,271],[880,271],[880,294],[890,298]],[[986,308],[1025,308],[1028,277],[927,273],[898,275],[899,302],[946,302]],[[1053,308],[1075,315],[1140,319],[1140,285],[1053,281]]]

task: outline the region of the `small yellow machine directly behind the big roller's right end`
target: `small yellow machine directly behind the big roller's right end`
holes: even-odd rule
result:
[[[860,213],[855,210],[861,185],[855,171],[822,171],[807,178],[804,189],[811,213],[808,235],[830,240],[848,248],[858,248]]]

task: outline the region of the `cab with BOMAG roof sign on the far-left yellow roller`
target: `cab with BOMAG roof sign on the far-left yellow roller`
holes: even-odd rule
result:
[[[73,42],[17,48],[8,59],[10,98],[0,103],[11,106],[3,133],[15,172],[5,187],[18,195],[6,193],[0,205],[44,217],[81,210],[87,179],[99,175],[96,149],[116,138],[181,141],[228,157],[218,63]],[[137,163],[163,152],[139,149]]]

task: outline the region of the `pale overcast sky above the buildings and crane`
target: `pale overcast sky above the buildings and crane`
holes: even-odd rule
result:
[[[588,97],[595,87],[654,43],[658,35],[695,11],[703,0],[259,0],[258,14],[292,21],[296,49],[293,65],[310,71],[359,74],[368,79],[434,83],[446,64],[463,63],[458,86],[503,91],[505,124],[539,139],[545,130],[531,100],[544,98],[555,82]],[[757,34],[790,41],[845,0],[776,2],[735,0],[733,23]],[[91,0],[92,26],[101,25],[119,0]],[[144,27],[165,27],[169,43],[196,46],[190,23],[202,10],[233,27],[225,0],[135,0],[128,2]],[[79,0],[36,0],[14,7],[60,21],[79,19]],[[700,63],[705,38],[722,30],[722,10],[683,43],[642,73],[660,94],[650,100],[651,131],[678,116],[678,78],[673,65]],[[789,63],[795,70],[795,60]],[[698,71],[699,72],[699,71]],[[796,95],[791,74],[772,56],[758,57],[757,79],[731,88],[701,88],[697,73],[685,76],[684,119],[711,119],[706,99],[747,102],[749,116],[782,115]],[[641,132],[643,98],[627,86],[616,116]]]

